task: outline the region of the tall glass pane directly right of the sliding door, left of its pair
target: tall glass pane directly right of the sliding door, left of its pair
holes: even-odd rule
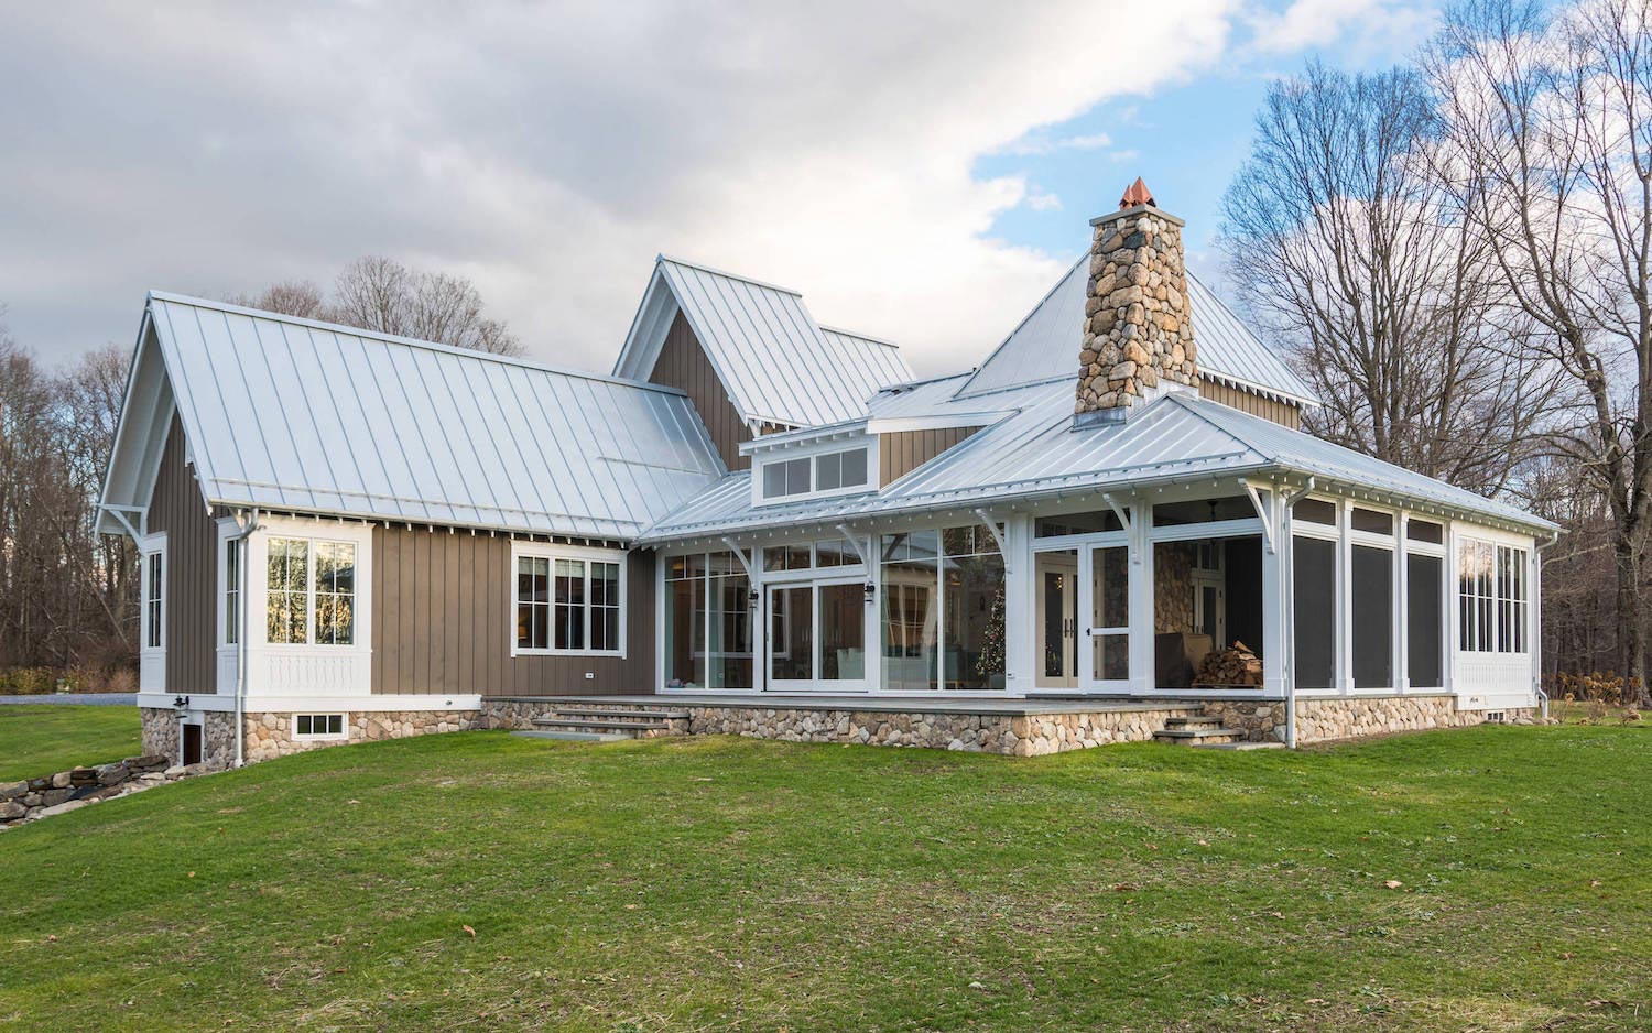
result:
[[[884,688],[914,693],[937,686],[940,635],[940,532],[885,534],[881,540]]]

